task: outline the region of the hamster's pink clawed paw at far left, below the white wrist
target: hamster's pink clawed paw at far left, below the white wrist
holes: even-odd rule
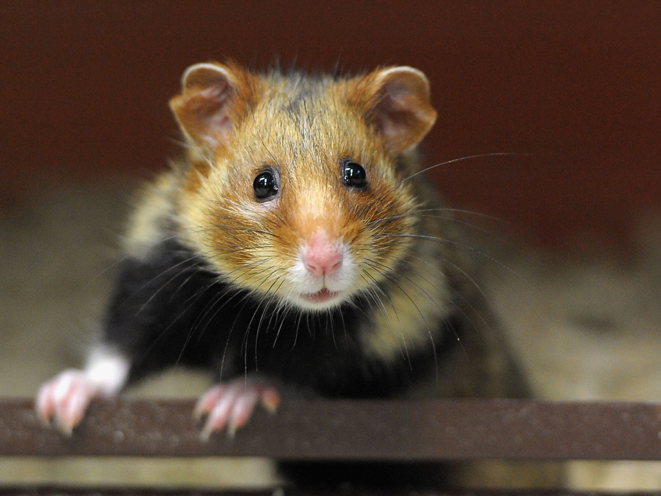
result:
[[[97,395],[98,387],[82,370],[69,369],[41,387],[35,408],[45,425],[53,420],[59,431],[70,436]]]

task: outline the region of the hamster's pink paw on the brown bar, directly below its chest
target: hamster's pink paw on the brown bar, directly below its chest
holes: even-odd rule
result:
[[[198,400],[194,415],[197,419],[206,416],[200,433],[208,440],[212,433],[227,426],[227,434],[234,436],[253,415],[254,407],[260,402],[270,412],[275,412],[280,403],[278,390],[270,384],[257,380],[237,378],[210,388]]]

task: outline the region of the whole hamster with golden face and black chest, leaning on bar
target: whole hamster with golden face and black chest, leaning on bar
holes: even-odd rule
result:
[[[186,157],[141,192],[102,333],[42,386],[44,422],[71,434],[91,400],[171,366],[215,376],[203,438],[285,390],[527,393],[480,255],[420,173],[436,120],[422,72],[198,63],[170,105]]]

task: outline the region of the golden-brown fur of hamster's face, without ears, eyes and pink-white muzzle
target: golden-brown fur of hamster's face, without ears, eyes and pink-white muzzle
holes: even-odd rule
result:
[[[358,257],[372,257],[372,265],[393,267],[410,241],[369,237],[362,227],[389,217],[391,222],[374,224],[370,233],[411,233],[406,214],[415,202],[380,135],[366,126],[358,104],[348,103],[365,90],[331,78],[311,82],[270,74],[241,80],[248,81],[249,90],[239,93],[250,96],[236,99],[249,104],[239,105],[236,114],[248,106],[249,116],[234,123],[227,145],[214,149],[205,181],[190,174],[182,188],[179,220],[188,242],[208,254],[219,273],[233,274],[237,284],[258,292],[268,286],[263,265],[254,261],[268,260],[274,270],[286,270],[298,245],[317,227],[350,243]],[[305,98],[297,100],[297,94]],[[353,194],[338,181],[342,157],[370,165],[368,191]],[[264,165],[274,167],[282,182],[277,205],[253,200],[253,178]],[[380,278],[379,269],[362,269],[366,278],[357,289]],[[284,284],[270,291],[288,290]]]

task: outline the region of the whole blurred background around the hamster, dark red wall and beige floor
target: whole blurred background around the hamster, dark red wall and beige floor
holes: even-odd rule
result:
[[[7,1],[0,19],[1,395],[32,396],[79,363],[130,192],[180,153],[167,101],[182,71],[233,58],[412,65],[439,111],[428,165],[529,154],[430,177],[452,206],[502,221],[479,241],[502,263],[484,284],[535,392],[661,399],[660,3]],[[168,380],[135,393],[207,384]],[[0,460],[0,481],[83,473],[49,463]],[[246,480],[269,480],[258,463]],[[109,467],[85,473],[111,483],[128,470]],[[227,470],[215,472],[240,481]],[[574,487],[661,487],[651,464],[568,474]]]

